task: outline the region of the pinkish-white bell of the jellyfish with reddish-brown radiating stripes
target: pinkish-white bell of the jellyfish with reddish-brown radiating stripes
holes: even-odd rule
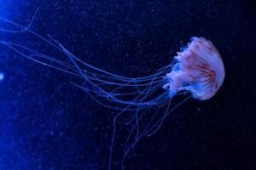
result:
[[[166,74],[163,88],[171,95],[189,91],[193,98],[212,98],[224,82],[224,64],[217,48],[204,37],[192,37],[187,48],[178,52],[177,63]]]

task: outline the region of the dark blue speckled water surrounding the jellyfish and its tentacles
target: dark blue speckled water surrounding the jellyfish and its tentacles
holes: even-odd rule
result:
[[[218,48],[226,71],[218,93],[173,111],[137,144],[125,169],[256,169],[253,1],[0,0],[0,17],[27,26],[37,8],[32,31],[125,77],[154,74],[190,37]],[[0,31],[0,40],[58,57],[26,33]],[[108,169],[117,111],[98,105],[74,79],[0,45],[0,170]],[[126,136],[122,129],[116,134],[113,169],[120,169]]]

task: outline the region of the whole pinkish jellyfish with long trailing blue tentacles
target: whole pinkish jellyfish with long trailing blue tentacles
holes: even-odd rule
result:
[[[81,88],[99,105],[117,111],[113,118],[108,169],[113,167],[116,122],[119,117],[128,114],[130,118],[125,125],[131,125],[125,140],[124,156],[121,160],[122,169],[124,169],[126,156],[131,150],[134,150],[136,144],[143,137],[156,133],[166,116],[190,98],[211,99],[224,82],[223,60],[213,43],[204,37],[192,37],[186,48],[178,52],[169,65],[163,66],[153,75],[122,77],[83,61],[53,37],[44,37],[32,31],[30,29],[32,22],[29,26],[20,26],[11,20],[3,18],[0,20],[17,29],[0,28],[0,31],[31,34],[42,43],[48,44],[49,47],[55,48],[59,53],[67,56],[68,61],[58,59],[57,56],[40,53],[37,49],[26,47],[20,43],[0,40],[0,44],[27,59],[78,77],[80,81],[72,82],[73,85]],[[185,99],[172,105],[173,97],[180,94],[185,95]],[[151,114],[148,114],[150,111]]]

